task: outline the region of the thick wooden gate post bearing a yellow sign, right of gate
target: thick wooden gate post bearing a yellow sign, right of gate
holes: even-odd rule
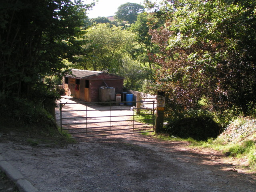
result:
[[[164,92],[157,92],[157,102],[156,102],[156,128],[155,132],[160,133],[164,128],[164,106],[165,106],[165,96]]]

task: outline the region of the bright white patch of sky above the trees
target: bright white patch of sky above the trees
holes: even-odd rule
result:
[[[92,0],[84,0],[86,4]],[[127,2],[143,4],[144,0],[98,0],[92,10],[88,11],[89,18],[113,16],[120,5]]]

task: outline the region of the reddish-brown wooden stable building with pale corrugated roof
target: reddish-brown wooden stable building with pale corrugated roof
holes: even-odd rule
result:
[[[115,100],[115,94],[123,91],[124,77],[101,71],[72,69],[72,74],[64,76],[62,85],[66,95],[86,102]],[[114,97],[108,99],[104,94],[110,92]]]

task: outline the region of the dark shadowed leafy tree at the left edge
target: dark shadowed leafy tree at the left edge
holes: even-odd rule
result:
[[[10,100],[40,102],[50,90],[46,76],[62,76],[64,59],[74,62],[81,50],[86,8],[80,0],[7,0],[0,4],[1,111],[12,111]],[[9,104],[9,106],[7,106]]]

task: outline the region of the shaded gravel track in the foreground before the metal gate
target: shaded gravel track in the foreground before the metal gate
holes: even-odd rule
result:
[[[40,192],[255,192],[256,176],[222,154],[140,134],[37,146],[0,134],[0,153]]]

